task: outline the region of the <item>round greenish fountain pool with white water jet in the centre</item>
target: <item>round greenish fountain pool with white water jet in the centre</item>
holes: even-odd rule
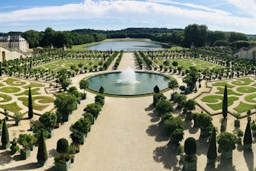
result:
[[[90,90],[99,92],[102,86],[105,94],[132,96],[154,93],[156,85],[160,90],[167,89],[170,78],[160,74],[134,72],[128,68],[122,72],[99,74],[87,80]]]

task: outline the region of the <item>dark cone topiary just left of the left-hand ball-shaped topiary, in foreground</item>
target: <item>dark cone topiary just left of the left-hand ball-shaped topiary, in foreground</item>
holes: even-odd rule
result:
[[[38,142],[37,150],[37,163],[40,166],[44,166],[44,163],[48,159],[47,147],[44,141],[44,131],[41,131],[41,136]]]

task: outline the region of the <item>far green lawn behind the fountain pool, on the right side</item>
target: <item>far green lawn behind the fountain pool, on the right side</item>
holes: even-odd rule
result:
[[[177,67],[182,67],[183,69],[188,69],[191,66],[196,67],[196,69],[207,69],[207,68],[223,68],[220,65],[214,65],[212,63],[209,62],[205,62],[203,60],[200,59],[172,59],[172,60],[168,60],[170,62],[170,66],[173,67],[172,63],[178,62],[178,66]],[[164,65],[164,60],[155,60],[154,62],[157,63],[157,65]]]

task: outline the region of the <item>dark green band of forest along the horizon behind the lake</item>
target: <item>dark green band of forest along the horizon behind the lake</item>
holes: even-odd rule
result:
[[[193,43],[196,47],[202,46],[228,46],[232,50],[241,47],[248,47],[255,43],[254,35],[244,33],[212,31],[206,25],[191,24],[185,29],[167,28],[127,28],[124,30],[92,30],[79,29],[71,31],[56,31],[47,27],[43,32],[28,30],[24,33],[9,32],[0,33],[3,35],[21,34],[30,48],[42,47],[62,47],[63,44],[70,47],[83,43],[92,43],[107,38],[148,38],[160,43],[190,47]]]

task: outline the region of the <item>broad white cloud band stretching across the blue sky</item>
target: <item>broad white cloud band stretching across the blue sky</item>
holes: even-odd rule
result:
[[[228,1],[233,1],[234,5],[237,2],[236,5],[239,5],[239,1]],[[22,21],[31,22],[31,24],[35,21],[44,21],[47,24],[48,21],[49,24],[45,27],[54,21],[73,21],[73,23],[83,21],[85,27],[89,24],[96,24],[92,21],[102,23],[112,21],[113,27],[115,25],[118,28],[122,24],[125,24],[125,27],[184,27],[187,24],[197,23],[206,24],[209,29],[214,30],[236,30],[245,33],[254,33],[255,30],[256,32],[256,20],[253,17],[237,17],[227,11],[170,0],[147,0],[147,2],[85,0],[79,4],[0,12],[0,24],[2,25]],[[81,26],[80,23],[79,26]],[[93,25],[90,28],[93,28]],[[102,24],[102,29],[105,29],[104,24]]]

